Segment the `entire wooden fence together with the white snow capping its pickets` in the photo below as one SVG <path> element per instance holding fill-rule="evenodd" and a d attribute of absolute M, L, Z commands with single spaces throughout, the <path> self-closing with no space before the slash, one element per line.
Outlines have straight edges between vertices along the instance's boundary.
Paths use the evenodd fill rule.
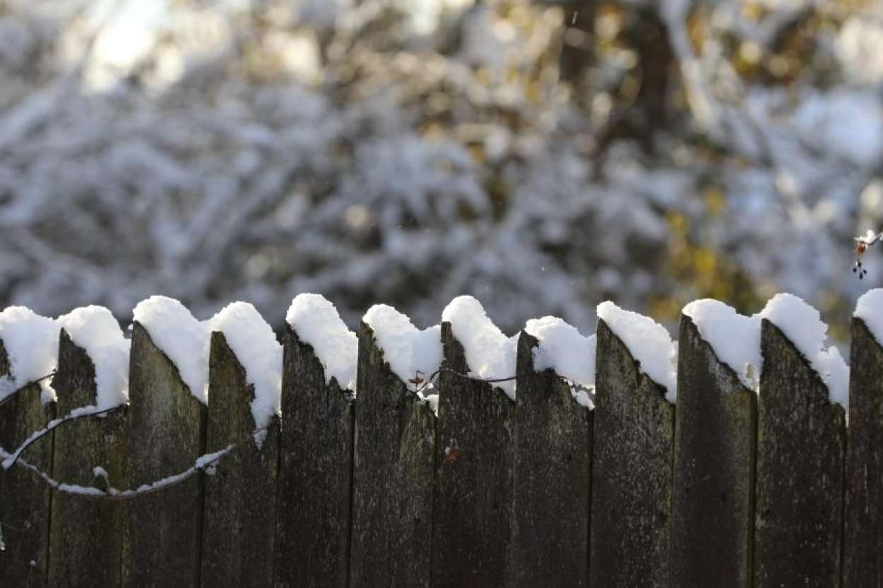
<path fill-rule="evenodd" d="M 879 585 L 883 290 L 598 315 L 7 309 L 0 586 Z"/>

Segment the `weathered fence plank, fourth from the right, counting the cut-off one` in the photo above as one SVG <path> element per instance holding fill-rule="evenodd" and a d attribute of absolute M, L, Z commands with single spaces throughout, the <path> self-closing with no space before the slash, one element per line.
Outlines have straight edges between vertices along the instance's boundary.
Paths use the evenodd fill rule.
<path fill-rule="evenodd" d="M 675 408 L 598 321 L 589 585 L 668 586 Z"/>

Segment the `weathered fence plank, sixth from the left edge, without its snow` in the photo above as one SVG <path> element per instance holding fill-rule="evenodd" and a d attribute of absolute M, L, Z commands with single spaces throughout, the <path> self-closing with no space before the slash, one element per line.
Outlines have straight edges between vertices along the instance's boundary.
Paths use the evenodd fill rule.
<path fill-rule="evenodd" d="M 435 415 L 392 372 L 362 323 L 351 588 L 428 588 L 434 477 Z"/>

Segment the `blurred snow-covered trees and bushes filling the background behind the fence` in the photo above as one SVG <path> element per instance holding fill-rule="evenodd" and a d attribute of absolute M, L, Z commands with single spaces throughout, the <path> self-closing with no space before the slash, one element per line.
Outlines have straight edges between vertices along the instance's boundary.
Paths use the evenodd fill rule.
<path fill-rule="evenodd" d="M 150 4 L 0 0 L 4 305 L 589 331 L 883 279 L 879 2 Z"/>

